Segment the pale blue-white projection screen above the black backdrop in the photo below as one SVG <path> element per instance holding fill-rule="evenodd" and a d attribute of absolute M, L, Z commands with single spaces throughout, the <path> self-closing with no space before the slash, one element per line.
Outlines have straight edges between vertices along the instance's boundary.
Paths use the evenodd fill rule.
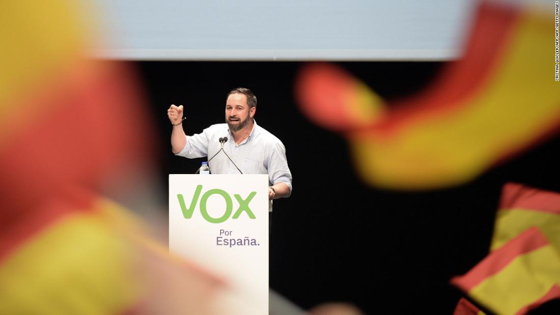
<path fill-rule="evenodd" d="M 468 0 L 95 0 L 100 58 L 450 60 Z"/>

